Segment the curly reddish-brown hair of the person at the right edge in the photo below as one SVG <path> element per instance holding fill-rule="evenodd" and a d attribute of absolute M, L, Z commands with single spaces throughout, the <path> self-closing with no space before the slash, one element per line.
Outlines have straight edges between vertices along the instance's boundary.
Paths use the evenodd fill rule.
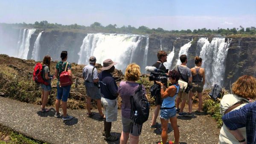
<path fill-rule="evenodd" d="M 256 78 L 243 75 L 232 85 L 232 92 L 243 98 L 256 98 Z"/>

